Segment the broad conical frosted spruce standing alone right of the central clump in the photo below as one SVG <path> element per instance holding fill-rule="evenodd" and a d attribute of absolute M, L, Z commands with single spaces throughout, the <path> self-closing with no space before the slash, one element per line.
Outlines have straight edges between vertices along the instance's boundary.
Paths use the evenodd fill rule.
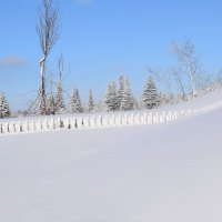
<path fill-rule="evenodd" d="M 158 94 L 157 87 L 149 77 L 143 90 L 143 103 L 147 109 L 157 108 L 160 104 L 160 95 Z"/>

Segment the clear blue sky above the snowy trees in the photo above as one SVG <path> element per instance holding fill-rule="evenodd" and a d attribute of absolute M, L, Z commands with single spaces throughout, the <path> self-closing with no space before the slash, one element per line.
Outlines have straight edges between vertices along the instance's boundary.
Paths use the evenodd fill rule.
<path fill-rule="evenodd" d="M 38 0 L 3 0 L 0 7 L 0 91 L 13 110 L 28 107 L 39 85 L 42 57 L 36 33 Z M 64 59 L 65 95 L 72 87 L 83 100 L 97 98 L 107 83 L 129 75 L 135 95 L 149 67 L 175 64 L 173 41 L 190 38 L 202 69 L 222 68 L 221 0 L 61 0 L 62 32 L 48 61 L 57 79 L 57 60 Z M 70 71 L 69 71 L 70 67 Z"/>

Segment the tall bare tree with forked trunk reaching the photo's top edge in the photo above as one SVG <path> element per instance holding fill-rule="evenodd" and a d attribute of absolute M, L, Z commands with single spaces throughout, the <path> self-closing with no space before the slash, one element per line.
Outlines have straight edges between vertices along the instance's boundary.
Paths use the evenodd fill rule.
<path fill-rule="evenodd" d="M 39 7 L 38 22 L 36 26 L 40 48 L 43 53 L 43 58 L 39 61 L 41 83 L 38 100 L 41 114 L 47 114 L 46 61 L 60 37 L 59 16 L 59 8 L 53 3 L 53 0 L 42 0 L 42 4 Z"/>

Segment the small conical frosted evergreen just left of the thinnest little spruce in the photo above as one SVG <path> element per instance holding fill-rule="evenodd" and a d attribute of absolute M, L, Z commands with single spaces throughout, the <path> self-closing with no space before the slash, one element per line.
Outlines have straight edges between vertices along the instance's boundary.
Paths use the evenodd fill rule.
<path fill-rule="evenodd" d="M 83 112 L 78 89 L 72 89 L 72 91 L 71 91 L 69 112 L 70 113 Z"/>

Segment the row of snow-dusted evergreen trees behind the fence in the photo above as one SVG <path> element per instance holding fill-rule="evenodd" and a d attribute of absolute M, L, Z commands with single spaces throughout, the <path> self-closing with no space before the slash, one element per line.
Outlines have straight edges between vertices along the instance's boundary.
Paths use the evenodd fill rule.
<path fill-rule="evenodd" d="M 67 103 L 67 104 L 65 104 Z M 87 105 L 82 104 L 82 99 L 79 90 L 73 88 L 70 92 L 69 100 L 64 100 L 64 91 L 62 81 L 57 83 L 56 93 L 51 93 L 46 100 L 46 113 L 65 114 L 65 113 L 83 113 L 83 112 L 98 112 L 98 111 L 130 111 L 137 109 L 153 109 L 161 105 L 161 93 L 158 91 L 152 78 L 149 77 L 144 85 L 142 94 L 142 103 L 133 95 L 130 80 L 125 75 L 120 75 L 118 85 L 114 81 L 108 84 L 107 93 L 102 100 L 95 101 L 92 89 L 89 90 L 89 98 Z M 30 112 L 29 114 L 42 114 L 42 107 L 39 107 L 38 112 Z M 0 118 L 9 118 L 11 115 L 7 98 L 2 93 L 0 95 Z"/>

